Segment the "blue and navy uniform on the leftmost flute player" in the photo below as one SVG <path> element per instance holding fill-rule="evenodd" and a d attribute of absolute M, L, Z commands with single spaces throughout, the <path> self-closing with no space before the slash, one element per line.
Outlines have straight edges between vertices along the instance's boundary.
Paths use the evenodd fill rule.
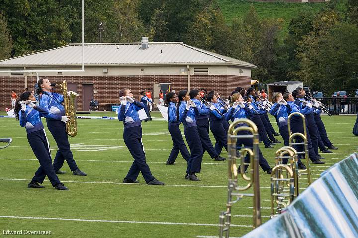
<path fill-rule="evenodd" d="M 41 122 L 40 112 L 43 115 L 47 114 L 47 111 L 40 106 L 32 108 L 26 105 L 26 111 L 19 111 L 20 126 L 26 128 L 27 140 L 40 162 L 40 167 L 31 182 L 43 183 L 47 175 L 52 186 L 55 187 L 60 183 L 60 180 L 52 166 L 50 146 Z"/>

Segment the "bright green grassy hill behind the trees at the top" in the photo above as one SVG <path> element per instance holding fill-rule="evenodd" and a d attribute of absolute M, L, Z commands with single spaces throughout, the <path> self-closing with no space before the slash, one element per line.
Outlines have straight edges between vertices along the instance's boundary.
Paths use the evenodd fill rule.
<path fill-rule="evenodd" d="M 347 0 L 341 0 L 338 8 L 344 11 Z M 253 4 L 260 18 L 282 18 L 284 20 L 283 30 L 280 38 L 287 34 L 287 27 L 292 17 L 301 11 L 318 12 L 328 3 L 287 3 L 287 2 L 255 2 L 252 0 L 217 0 L 225 20 L 228 24 L 235 17 L 242 18 Z"/>

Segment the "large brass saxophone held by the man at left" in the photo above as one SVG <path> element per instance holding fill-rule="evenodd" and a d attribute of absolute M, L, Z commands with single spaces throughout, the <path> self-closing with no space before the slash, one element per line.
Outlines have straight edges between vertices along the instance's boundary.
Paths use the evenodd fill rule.
<path fill-rule="evenodd" d="M 69 91 L 70 96 L 67 95 L 66 80 L 63 80 L 62 84 L 59 83 L 56 85 L 60 85 L 61 90 L 63 91 L 65 115 L 69 118 L 68 122 L 66 123 L 66 132 L 69 136 L 76 136 L 77 118 L 76 118 L 75 99 L 79 94 L 73 91 Z"/>

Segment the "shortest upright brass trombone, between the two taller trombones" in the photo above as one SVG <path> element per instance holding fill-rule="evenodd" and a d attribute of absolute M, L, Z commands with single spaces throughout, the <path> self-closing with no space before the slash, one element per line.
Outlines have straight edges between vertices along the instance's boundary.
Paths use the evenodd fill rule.
<path fill-rule="evenodd" d="M 288 165 L 282 162 L 285 158 L 289 159 Z M 275 160 L 276 165 L 271 175 L 271 218 L 281 214 L 282 210 L 299 194 L 297 151 L 292 147 L 284 146 L 276 151 Z M 286 172 L 286 178 L 284 172 Z M 289 187 L 288 190 L 286 186 Z"/>

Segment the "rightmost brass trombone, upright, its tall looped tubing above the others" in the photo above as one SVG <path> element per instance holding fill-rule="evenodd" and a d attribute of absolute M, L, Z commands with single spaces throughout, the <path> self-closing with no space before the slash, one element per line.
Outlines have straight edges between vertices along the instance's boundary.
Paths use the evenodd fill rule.
<path fill-rule="evenodd" d="M 303 124 L 303 133 L 300 132 L 296 132 L 293 133 L 291 132 L 291 118 L 293 116 L 300 116 L 302 118 L 302 124 Z M 288 135 L 289 135 L 289 145 L 290 147 L 294 147 L 296 145 L 303 145 L 304 146 L 304 151 L 297 151 L 297 155 L 305 155 L 306 158 L 306 164 L 307 164 L 307 169 L 306 170 L 302 170 L 301 172 L 307 172 L 307 173 L 300 173 L 299 176 L 301 175 L 307 175 L 307 183 L 308 186 L 311 185 L 312 183 L 312 177 L 311 177 L 311 169 L 310 169 L 310 165 L 309 165 L 309 154 L 308 154 L 308 140 L 307 140 L 307 130 L 306 130 L 306 120 L 305 120 L 305 116 L 302 113 L 299 112 L 293 112 L 288 116 Z M 294 142 L 294 138 L 295 137 L 300 137 L 302 138 L 303 142 Z"/>

